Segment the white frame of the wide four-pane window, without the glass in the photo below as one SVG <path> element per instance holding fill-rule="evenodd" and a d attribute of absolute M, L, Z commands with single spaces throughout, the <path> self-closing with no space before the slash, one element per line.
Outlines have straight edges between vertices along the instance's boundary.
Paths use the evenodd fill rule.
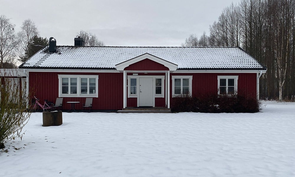
<path fill-rule="evenodd" d="M 77 94 L 62 94 L 62 78 L 77 78 Z M 95 78 L 95 94 L 81 94 L 81 78 L 87 78 L 87 84 L 89 84 L 89 78 Z M 89 93 L 89 85 L 87 86 L 87 92 Z M 98 98 L 98 75 L 58 75 L 58 97 L 96 97 Z"/>

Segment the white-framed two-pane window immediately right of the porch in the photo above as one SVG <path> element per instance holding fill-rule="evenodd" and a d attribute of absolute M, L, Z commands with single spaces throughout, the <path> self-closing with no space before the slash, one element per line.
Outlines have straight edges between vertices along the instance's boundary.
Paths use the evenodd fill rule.
<path fill-rule="evenodd" d="M 172 76 L 172 96 L 190 95 L 193 76 Z"/>

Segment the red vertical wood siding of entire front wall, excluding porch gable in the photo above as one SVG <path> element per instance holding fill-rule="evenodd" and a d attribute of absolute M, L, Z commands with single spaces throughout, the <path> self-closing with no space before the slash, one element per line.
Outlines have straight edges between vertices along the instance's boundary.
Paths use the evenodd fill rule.
<path fill-rule="evenodd" d="M 58 74 L 61 75 L 98 75 L 98 98 L 93 98 L 93 109 L 119 110 L 123 108 L 123 73 L 58 73 L 58 72 L 30 72 L 29 93 L 43 103 L 43 99 L 55 102 L 58 98 Z M 127 73 L 132 75 L 132 73 Z M 139 75 L 165 75 L 165 73 L 139 73 Z M 172 76 L 193 76 L 192 96 L 204 97 L 217 94 L 217 76 L 239 76 L 238 94 L 246 94 L 256 98 L 256 73 L 171 73 L 170 95 L 172 97 Z M 165 83 L 165 82 L 164 82 Z M 165 87 L 165 84 L 164 84 Z M 164 94 L 166 94 L 164 92 Z M 165 95 L 166 96 L 166 95 Z M 81 109 L 86 97 L 63 97 L 63 109 L 70 109 L 67 101 L 80 101 L 76 104 Z M 137 106 L 137 98 L 127 98 L 127 106 Z M 165 98 L 155 98 L 155 106 L 164 107 Z"/>

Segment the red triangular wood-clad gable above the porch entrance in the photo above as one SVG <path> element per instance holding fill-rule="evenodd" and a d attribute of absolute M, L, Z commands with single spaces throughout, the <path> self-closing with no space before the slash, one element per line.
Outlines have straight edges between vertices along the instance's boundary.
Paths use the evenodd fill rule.
<path fill-rule="evenodd" d="M 125 71 L 168 71 L 169 68 L 166 66 L 157 63 L 153 60 L 150 60 L 148 58 L 141 60 L 139 62 L 133 63 L 126 68 L 124 68 Z"/>

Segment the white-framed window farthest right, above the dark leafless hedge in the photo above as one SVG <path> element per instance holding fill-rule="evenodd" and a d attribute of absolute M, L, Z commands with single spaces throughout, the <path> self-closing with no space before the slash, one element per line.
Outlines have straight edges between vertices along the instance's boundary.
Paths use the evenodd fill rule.
<path fill-rule="evenodd" d="M 217 76 L 219 95 L 236 95 L 239 76 Z"/>

